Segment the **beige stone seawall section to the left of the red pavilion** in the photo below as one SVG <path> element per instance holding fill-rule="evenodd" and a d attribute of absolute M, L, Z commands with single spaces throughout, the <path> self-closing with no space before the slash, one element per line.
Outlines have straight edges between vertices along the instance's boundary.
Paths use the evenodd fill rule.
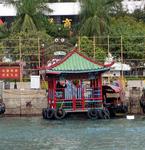
<path fill-rule="evenodd" d="M 18 89 L 3 90 L 3 102 L 6 115 L 41 115 L 42 108 L 47 107 L 46 91 L 30 89 L 29 83 L 17 83 Z"/>

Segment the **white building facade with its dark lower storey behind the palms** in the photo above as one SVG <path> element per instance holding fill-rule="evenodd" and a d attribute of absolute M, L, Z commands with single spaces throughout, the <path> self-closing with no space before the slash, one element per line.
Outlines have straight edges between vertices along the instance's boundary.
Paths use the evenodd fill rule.
<path fill-rule="evenodd" d="M 145 1 L 124 0 L 122 4 L 123 8 L 131 13 L 135 9 L 143 9 Z M 50 14 L 44 12 L 44 14 L 54 18 L 57 23 L 62 23 L 62 20 L 65 18 L 70 18 L 73 22 L 78 20 L 78 14 L 80 12 L 80 3 L 78 0 L 50 0 L 48 5 L 53 12 Z M 3 22 L 12 22 L 16 14 L 16 9 L 12 5 L 5 5 L 3 0 L 0 0 L 0 19 Z"/>

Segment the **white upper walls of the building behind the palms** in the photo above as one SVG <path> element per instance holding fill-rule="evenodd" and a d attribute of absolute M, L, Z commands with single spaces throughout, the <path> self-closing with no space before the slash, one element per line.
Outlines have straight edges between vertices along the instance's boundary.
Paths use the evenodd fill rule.
<path fill-rule="evenodd" d="M 145 0 L 124 0 L 122 2 L 124 9 L 129 12 L 133 12 L 135 9 L 143 9 L 145 6 Z M 62 15 L 78 15 L 80 12 L 79 2 L 56 2 L 49 3 L 49 7 L 53 10 L 50 16 L 62 16 Z M 0 16 L 16 16 L 16 9 L 13 6 L 8 6 L 0 1 Z"/>

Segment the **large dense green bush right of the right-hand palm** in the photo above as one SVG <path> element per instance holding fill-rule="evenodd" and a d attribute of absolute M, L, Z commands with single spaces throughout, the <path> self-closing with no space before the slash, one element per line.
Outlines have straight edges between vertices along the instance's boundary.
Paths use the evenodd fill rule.
<path fill-rule="evenodd" d="M 120 57 L 122 36 L 123 56 L 125 59 L 145 58 L 144 23 L 137 22 L 134 18 L 127 16 L 113 18 L 110 35 L 113 37 L 110 42 L 110 50 L 116 57 Z"/>

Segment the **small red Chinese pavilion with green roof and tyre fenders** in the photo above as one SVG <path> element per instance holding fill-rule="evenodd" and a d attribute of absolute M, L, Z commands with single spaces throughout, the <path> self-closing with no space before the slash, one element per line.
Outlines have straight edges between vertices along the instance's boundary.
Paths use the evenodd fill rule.
<path fill-rule="evenodd" d="M 103 105 L 102 74 L 109 66 L 99 64 L 77 49 L 51 66 L 41 68 L 48 81 L 45 119 L 62 119 L 67 113 L 85 112 L 89 118 L 110 118 Z"/>

